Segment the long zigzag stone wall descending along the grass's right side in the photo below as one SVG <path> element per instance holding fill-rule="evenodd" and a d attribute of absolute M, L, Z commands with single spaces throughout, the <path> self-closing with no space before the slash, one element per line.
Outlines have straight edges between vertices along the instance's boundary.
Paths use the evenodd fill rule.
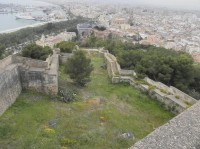
<path fill-rule="evenodd" d="M 133 70 L 122 70 L 116 57 L 108 53 L 108 51 L 103 49 L 88 50 L 88 52 L 94 51 L 98 51 L 101 54 L 103 53 L 102 55 L 105 59 L 108 75 L 111 78 L 112 83 L 129 83 L 135 88 L 149 94 L 152 98 L 161 102 L 166 109 L 174 114 L 183 112 L 185 109 L 197 102 L 197 100 L 180 90 L 172 86 L 169 87 L 161 82 L 156 82 L 150 78 L 146 77 L 143 81 L 137 82 L 134 79 L 136 73 Z"/>

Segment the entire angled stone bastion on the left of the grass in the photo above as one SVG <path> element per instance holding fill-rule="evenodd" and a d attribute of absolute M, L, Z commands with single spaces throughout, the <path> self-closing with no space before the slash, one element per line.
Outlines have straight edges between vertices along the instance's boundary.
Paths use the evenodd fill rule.
<path fill-rule="evenodd" d="M 46 61 L 11 55 L 0 61 L 0 115 L 11 106 L 22 89 L 58 93 L 59 49 Z"/>

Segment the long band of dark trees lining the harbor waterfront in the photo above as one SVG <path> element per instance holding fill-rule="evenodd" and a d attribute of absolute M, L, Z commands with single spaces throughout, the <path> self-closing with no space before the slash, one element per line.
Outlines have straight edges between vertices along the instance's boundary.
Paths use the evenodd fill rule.
<path fill-rule="evenodd" d="M 42 34 L 57 34 L 66 30 L 77 31 L 76 25 L 87 20 L 86 18 L 79 17 L 73 20 L 47 23 L 38 27 L 28 27 L 12 33 L 0 34 L 0 43 L 4 43 L 6 47 L 10 47 L 24 42 L 35 41 Z"/>

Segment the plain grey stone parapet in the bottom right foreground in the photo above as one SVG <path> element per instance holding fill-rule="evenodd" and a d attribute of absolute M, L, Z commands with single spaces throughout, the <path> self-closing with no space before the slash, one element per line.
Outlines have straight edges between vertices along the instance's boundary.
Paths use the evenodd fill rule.
<path fill-rule="evenodd" d="M 200 101 L 129 149 L 199 149 Z"/>

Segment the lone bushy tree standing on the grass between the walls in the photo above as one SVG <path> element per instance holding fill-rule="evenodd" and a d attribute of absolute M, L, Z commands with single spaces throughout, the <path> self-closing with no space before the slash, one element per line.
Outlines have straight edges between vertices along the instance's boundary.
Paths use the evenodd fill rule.
<path fill-rule="evenodd" d="M 65 73 L 81 86 L 85 86 L 90 81 L 92 71 L 91 59 L 87 58 L 86 53 L 82 50 L 75 51 L 65 65 Z"/>

